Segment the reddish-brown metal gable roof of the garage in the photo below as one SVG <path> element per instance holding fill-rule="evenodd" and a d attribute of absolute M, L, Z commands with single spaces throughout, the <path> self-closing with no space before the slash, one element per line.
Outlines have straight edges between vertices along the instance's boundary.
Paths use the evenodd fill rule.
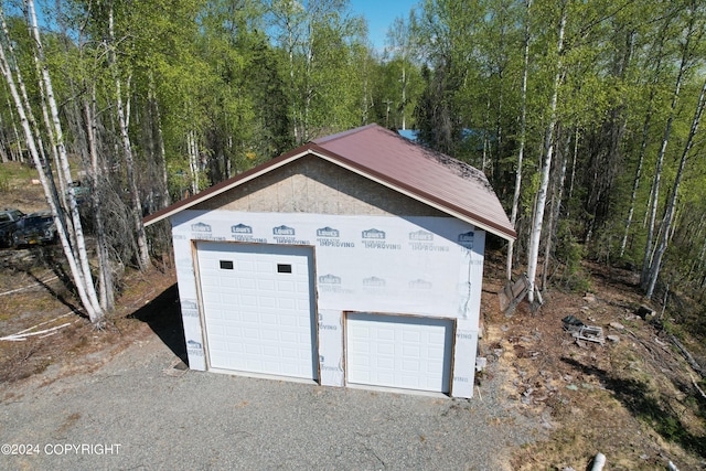
<path fill-rule="evenodd" d="M 317 139 L 145 218 L 149 225 L 302 156 L 313 153 L 505 239 L 510 224 L 488 179 L 461 161 L 368 125 Z"/>

